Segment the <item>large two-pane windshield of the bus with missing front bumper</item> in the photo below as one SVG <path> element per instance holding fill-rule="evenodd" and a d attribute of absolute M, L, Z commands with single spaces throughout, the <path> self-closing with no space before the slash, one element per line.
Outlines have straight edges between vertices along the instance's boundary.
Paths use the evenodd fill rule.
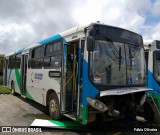
<path fill-rule="evenodd" d="M 95 40 L 90 52 L 90 80 L 97 85 L 139 85 L 146 79 L 144 49 L 136 45 Z"/>

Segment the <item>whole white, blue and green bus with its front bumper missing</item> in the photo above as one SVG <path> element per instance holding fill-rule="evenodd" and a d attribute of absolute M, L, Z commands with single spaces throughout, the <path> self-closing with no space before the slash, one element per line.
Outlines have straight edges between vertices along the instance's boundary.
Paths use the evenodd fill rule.
<path fill-rule="evenodd" d="M 77 26 L 5 55 L 4 84 L 84 125 L 139 112 L 146 93 L 142 36 L 101 23 Z M 143 118 L 147 118 L 144 115 Z"/>

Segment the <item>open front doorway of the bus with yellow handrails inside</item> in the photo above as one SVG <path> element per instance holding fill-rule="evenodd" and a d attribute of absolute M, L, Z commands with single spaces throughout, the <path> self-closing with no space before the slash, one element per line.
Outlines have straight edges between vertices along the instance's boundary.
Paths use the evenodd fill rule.
<path fill-rule="evenodd" d="M 61 111 L 76 116 L 79 41 L 64 44 Z M 74 113 L 75 112 L 75 113 Z"/>

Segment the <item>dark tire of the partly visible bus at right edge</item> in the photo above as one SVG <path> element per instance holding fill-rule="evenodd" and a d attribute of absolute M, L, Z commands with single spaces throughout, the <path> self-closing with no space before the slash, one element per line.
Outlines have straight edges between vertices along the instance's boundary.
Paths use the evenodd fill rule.
<path fill-rule="evenodd" d="M 152 99 L 147 99 L 146 102 L 144 103 L 143 108 L 144 108 L 145 118 L 149 122 L 160 125 L 160 115 Z"/>

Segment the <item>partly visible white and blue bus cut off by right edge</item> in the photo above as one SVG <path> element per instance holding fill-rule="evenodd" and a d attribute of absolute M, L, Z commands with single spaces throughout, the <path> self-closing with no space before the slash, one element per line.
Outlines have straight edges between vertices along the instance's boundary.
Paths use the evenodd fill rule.
<path fill-rule="evenodd" d="M 147 64 L 148 81 L 147 87 L 152 88 L 150 92 L 154 99 L 156 108 L 151 112 L 155 117 L 160 115 L 160 41 L 144 40 L 145 59 Z M 154 117 L 153 117 L 154 118 Z"/>

